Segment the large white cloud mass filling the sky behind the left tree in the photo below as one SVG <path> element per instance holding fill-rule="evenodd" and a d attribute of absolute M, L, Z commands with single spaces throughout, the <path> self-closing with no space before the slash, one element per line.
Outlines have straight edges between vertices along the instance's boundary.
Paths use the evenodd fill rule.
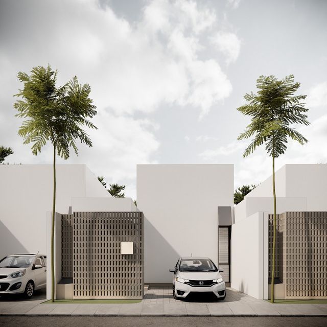
<path fill-rule="evenodd" d="M 230 95 L 217 59 L 202 57 L 216 32 L 215 11 L 195 1 L 153 0 L 133 23 L 97 0 L 5 2 L 0 104 L 8 110 L 0 113 L 0 138 L 14 147 L 11 162 L 51 162 L 51 149 L 34 157 L 21 145 L 12 109 L 21 87 L 17 72 L 50 63 L 59 69 L 58 84 L 74 75 L 87 82 L 98 110 L 99 130 L 90 132 L 94 147 L 81 146 L 80 156 L 67 162 L 86 162 L 96 174 L 132 185 L 136 164 L 153 162 L 159 147 L 157 126 L 137 114 L 168 104 L 194 107 L 202 118 Z"/>

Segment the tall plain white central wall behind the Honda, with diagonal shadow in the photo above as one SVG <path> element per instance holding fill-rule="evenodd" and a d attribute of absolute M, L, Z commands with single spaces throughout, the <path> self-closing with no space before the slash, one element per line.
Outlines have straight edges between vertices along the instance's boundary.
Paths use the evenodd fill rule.
<path fill-rule="evenodd" d="M 137 165 L 145 283 L 171 283 L 179 256 L 218 260 L 218 206 L 233 205 L 233 165 Z"/>

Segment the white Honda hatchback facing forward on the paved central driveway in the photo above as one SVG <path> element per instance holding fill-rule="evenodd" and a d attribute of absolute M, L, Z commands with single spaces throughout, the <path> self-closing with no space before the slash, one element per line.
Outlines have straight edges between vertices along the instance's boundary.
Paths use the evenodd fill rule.
<path fill-rule="evenodd" d="M 179 258 L 175 268 L 169 269 L 173 275 L 173 295 L 182 299 L 192 292 L 211 292 L 217 298 L 226 297 L 224 279 L 209 258 Z"/>

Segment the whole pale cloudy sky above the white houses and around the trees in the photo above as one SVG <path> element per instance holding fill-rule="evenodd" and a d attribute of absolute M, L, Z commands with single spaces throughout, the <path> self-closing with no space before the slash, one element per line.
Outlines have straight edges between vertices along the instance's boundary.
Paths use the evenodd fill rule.
<path fill-rule="evenodd" d="M 136 199 L 137 164 L 234 164 L 235 188 L 271 175 L 264 147 L 247 158 L 237 108 L 260 75 L 294 74 L 308 138 L 276 168 L 327 162 L 327 1 L 0 0 L 0 145 L 10 164 L 51 164 L 17 131 L 19 71 L 50 64 L 58 85 L 91 87 L 98 130 L 64 164 L 86 164 Z M 204 192 L 204 190 L 194 190 Z"/>

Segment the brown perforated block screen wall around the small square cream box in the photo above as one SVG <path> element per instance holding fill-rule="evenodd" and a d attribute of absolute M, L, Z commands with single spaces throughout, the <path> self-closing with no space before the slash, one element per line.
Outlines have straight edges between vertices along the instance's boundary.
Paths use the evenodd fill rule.
<path fill-rule="evenodd" d="M 143 298 L 143 225 L 141 212 L 62 215 L 62 277 L 73 277 L 74 299 Z"/>

